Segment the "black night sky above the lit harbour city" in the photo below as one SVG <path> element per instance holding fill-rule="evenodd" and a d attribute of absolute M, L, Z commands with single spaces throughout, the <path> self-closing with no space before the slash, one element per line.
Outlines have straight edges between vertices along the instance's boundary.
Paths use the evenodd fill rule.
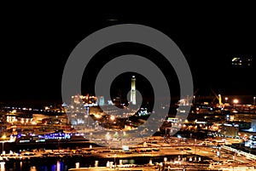
<path fill-rule="evenodd" d="M 171 37 L 188 60 L 195 89 L 256 94 L 255 65 L 230 66 L 233 57 L 249 56 L 255 63 L 256 26 L 251 9 L 198 8 L 170 14 L 73 11 L 17 5 L 1 12 L 0 100 L 61 100 L 62 71 L 73 48 L 94 31 L 124 23 L 152 26 Z M 105 50 L 106 55 L 151 54 L 132 44 L 119 45 L 117 51 L 113 48 Z M 104 55 L 99 54 L 97 61 Z M 93 89 L 93 82 L 86 79 L 84 93 Z"/>

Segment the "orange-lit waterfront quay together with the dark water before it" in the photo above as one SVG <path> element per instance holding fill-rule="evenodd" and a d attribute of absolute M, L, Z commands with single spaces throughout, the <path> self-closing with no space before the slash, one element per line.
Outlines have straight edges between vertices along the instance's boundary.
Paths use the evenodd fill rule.
<path fill-rule="evenodd" d="M 22 155 L 1 155 L 2 170 L 18 171 L 67 171 L 70 168 L 104 167 L 113 168 L 114 163 L 118 168 L 160 168 L 166 163 L 171 168 L 198 168 L 219 169 L 231 167 L 255 167 L 255 156 L 249 157 L 248 153 L 209 142 L 203 145 L 201 140 L 187 139 L 183 143 L 179 138 L 170 138 L 169 143 L 157 138 L 155 143 L 136 145 L 123 151 L 121 149 L 108 149 L 106 147 L 82 148 L 76 150 L 47 150 L 23 152 Z M 179 140 L 179 141 L 177 141 Z M 227 139 L 226 143 L 236 140 Z M 213 141 L 212 141 L 213 142 Z M 210 145 L 211 144 L 211 145 Z M 218 154 L 219 151 L 219 154 Z M 218 156 L 219 155 L 219 156 Z M 234 160 L 234 155 L 236 156 Z"/>

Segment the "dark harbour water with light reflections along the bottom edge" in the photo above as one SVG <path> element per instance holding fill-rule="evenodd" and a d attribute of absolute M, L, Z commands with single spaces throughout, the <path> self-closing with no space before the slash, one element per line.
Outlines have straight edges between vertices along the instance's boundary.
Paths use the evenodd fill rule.
<path fill-rule="evenodd" d="M 175 161 L 181 158 L 181 156 L 166 156 L 167 161 Z M 183 156 L 185 161 L 201 162 L 209 159 L 207 157 L 200 156 Z M 149 160 L 152 162 L 163 162 L 164 157 L 134 157 L 134 158 L 97 158 L 97 157 L 70 157 L 70 158 L 34 158 L 26 161 L 5 161 L 0 163 L 0 171 L 67 171 L 69 168 L 75 168 L 76 163 L 79 163 L 80 168 L 94 167 L 95 161 L 98 161 L 99 167 L 107 166 L 107 162 L 116 161 L 119 164 L 119 160 L 122 160 L 123 164 L 147 164 Z"/>

